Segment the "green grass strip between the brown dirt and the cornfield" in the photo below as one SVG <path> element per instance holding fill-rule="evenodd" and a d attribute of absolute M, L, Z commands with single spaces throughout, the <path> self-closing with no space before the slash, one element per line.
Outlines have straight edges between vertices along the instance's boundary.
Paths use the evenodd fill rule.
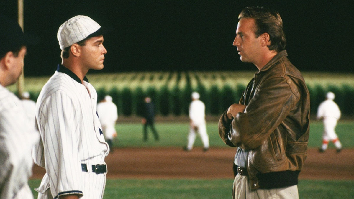
<path fill-rule="evenodd" d="M 218 134 L 216 122 L 207 123 L 211 147 L 228 147 L 222 142 Z M 155 142 L 149 130 L 149 141 L 143 142 L 143 126 L 139 123 L 121 123 L 116 125 L 117 138 L 115 147 L 183 147 L 187 144 L 189 132 L 188 123 L 156 123 L 156 130 L 160 135 L 160 141 Z M 336 132 L 344 148 L 354 148 L 353 142 L 354 121 L 339 121 Z M 320 121 L 311 121 L 308 147 L 319 147 L 322 144 L 323 124 Z M 202 146 L 197 137 L 194 146 Z M 334 147 L 330 142 L 329 147 Z"/>

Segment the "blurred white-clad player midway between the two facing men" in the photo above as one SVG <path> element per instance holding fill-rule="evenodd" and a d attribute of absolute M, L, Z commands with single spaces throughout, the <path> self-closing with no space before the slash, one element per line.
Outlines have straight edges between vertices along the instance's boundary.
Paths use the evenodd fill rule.
<path fill-rule="evenodd" d="M 188 143 L 187 147 L 184 148 L 187 151 L 192 150 L 197 132 L 203 142 L 203 150 L 206 151 L 209 149 L 209 137 L 206 133 L 205 105 L 199 100 L 199 97 L 198 92 L 192 93 L 192 102 L 189 105 L 190 128 Z"/>

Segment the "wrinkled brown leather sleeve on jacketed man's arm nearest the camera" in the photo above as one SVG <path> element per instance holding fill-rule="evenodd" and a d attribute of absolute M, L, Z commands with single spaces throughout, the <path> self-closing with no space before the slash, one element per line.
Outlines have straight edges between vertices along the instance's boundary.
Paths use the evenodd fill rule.
<path fill-rule="evenodd" d="M 261 146 L 289 114 L 294 97 L 284 77 L 265 80 L 250 99 L 245 112 L 238 113 L 232 120 L 227 140 L 248 150 Z"/>

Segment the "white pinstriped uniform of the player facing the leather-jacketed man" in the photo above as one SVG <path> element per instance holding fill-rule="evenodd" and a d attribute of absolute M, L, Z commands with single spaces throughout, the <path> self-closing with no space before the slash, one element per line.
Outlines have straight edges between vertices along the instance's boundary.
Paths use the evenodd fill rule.
<path fill-rule="evenodd" d="M 81 164 L 90 168 L 91 164 L 104 164 L 109 153 L 96 107 L 97 93 L 87 79 L 81 84 L 73 72 L 58 66 L 36 104 L 41 142 L 33 156 L 46 169 L 38 192 L 50 190 L 53 198 L 64 194 L 103 197 L 105 174 L 90 173 L 101 180 L 87 180 L 88 173 L 81 168 Z"/>

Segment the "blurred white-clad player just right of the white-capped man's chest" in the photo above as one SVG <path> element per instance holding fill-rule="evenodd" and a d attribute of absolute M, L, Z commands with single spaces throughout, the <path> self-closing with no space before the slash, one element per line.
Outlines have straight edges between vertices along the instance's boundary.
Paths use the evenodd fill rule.
<path fill-rule="evenodd" d="M 113 138 L 117 136 L 115 124 L 118 119 L 117 106 L 112 100 L 111 96 L 106 95 L 104 99 L 97 104 L 97 113 L 102 125 L 102 131 L 111 150 Z"/>

